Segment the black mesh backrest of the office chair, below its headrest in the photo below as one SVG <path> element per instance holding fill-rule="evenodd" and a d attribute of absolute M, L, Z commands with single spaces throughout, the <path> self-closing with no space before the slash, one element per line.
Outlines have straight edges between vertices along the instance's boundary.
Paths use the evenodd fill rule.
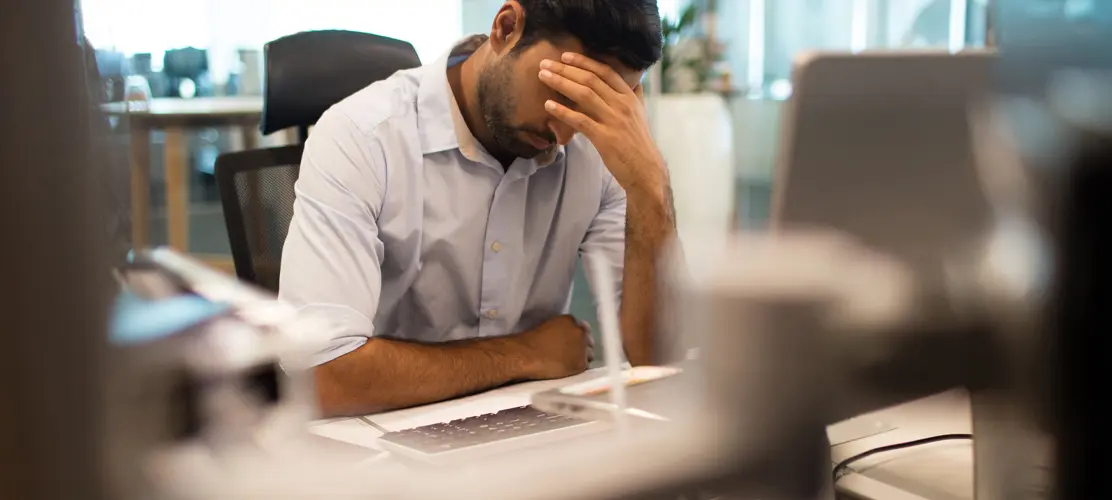
<path fill-rule="evenodd" d="M 301 146 L 221 154 L 216 182 L 239 279 L 278 291 Z"/>

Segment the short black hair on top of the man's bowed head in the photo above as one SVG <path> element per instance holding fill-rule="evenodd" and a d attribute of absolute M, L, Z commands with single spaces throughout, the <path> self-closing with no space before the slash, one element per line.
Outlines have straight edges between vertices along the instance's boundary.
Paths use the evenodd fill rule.
<path fill-rule="evenodd" d="M 590 57 L 613 57 L 637 71 L 661 59 L 664 38 L 656 0 L 517 0 L 525 9 L 518 50 L 572 36 Z"/>

